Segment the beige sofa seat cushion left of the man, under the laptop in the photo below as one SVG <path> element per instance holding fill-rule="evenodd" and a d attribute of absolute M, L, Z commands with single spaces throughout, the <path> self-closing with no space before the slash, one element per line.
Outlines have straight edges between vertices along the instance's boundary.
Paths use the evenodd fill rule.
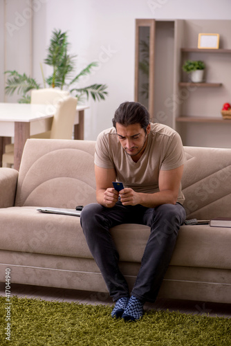
<path fill-rule="evenodd" d="M 0 209 L 2 250 L 91 257 L 80 226 L 80 217 L 45 214 L 36 209 Z"/>

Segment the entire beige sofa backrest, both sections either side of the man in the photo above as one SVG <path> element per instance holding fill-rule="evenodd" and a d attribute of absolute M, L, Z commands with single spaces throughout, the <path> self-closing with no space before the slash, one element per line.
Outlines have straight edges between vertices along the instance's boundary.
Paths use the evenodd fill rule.
<path fill-rule="evenodd" d="M 95 202 L 95 141 L 29 139 L 16 206 L 75 208 Z M 187 218 L 231 217 L 231 149 L 185 147 L 182 188 Z"/>

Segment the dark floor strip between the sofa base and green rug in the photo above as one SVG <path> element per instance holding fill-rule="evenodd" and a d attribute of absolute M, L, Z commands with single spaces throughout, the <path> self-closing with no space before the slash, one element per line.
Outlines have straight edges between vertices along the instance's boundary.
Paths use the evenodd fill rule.
<path fill-rule="evenodd" d="M 6 296 L 6 284 L 0 282 L 0 295 Z M 42 300 L 55 300 L 65 302 L 80 302 L 82 304 L 107 304 L 113 302 L 107 293 L 77 291 L 71 289 L 57 289 L 52 287 L 30 286 L 23 284 L 11 284 L 10 294 L 18 297 L 41 298 Z M 155 304 L 145 303 L 145 310 L 160 309 L 180 311 L 181 313 L 209 314 L 231 318 L 231 304 L 218 304 L 212 302 L 194 302 L 188 300 L 158 299 Z"/>

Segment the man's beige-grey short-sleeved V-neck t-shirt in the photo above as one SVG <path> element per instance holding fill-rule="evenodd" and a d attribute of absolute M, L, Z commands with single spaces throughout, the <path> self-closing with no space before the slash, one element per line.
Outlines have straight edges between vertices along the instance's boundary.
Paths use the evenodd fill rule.
<path fill-rule="evenodd" d="M 147 147 L 138 162 L 124 152 L 114 127 L 102 131 L 95 146 L 95 165 L 113 168 L 117 181 L 136 192 L 158 192 L 160 170 L 173 170 L 183 163 L 185 152 L 181 137 L 174 129 L 162 124 L 151 123 Z M 183 203 L 184 200 L 180 188 L 177 201 Z"/>

